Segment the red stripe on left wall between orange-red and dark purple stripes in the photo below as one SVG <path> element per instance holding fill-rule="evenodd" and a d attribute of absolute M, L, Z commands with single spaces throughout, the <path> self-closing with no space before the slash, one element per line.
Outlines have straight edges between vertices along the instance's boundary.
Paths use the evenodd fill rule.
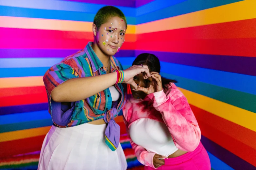
<path fill-rule="evenodd" d="M 18 96 L 0 97 L 0 101 L 1 101 L 0 107 L 48 102 L 46 92 L 36 93 L 36 94 L 25 94 L 25 95 L 18 95 Z"/>

